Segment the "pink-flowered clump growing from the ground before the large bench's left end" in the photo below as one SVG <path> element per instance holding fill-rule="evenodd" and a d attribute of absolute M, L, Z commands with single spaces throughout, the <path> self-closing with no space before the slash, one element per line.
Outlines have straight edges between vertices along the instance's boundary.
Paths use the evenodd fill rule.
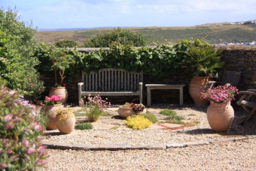
<path fill-rule="evenodd" d="M 107 102 L 108 98 L 105 101 L 102 100 L 100 93 L 94 97 L 90 97 L 89 94 L 87 100 L 84 103 L 84 100 L 81 98 L 79 106 L 85 109 L 85 115 L 88 117 L 89 122 L 97 121 L 103 115 L 103 109 L 111 106 L 111 102 Z"/>

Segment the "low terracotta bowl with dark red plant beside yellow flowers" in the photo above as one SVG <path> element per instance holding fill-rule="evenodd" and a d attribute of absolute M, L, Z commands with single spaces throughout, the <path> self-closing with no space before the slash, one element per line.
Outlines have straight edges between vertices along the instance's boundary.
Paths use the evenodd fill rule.
<path fill-rule="evenodd" d="M 119 106 L 119 109 L 117 110 L 117 113 L 123 118 L 145 112 L 146 110 L 143 104 L 133 104 L 128 102 L 126 102 L 124 105 Z"/>

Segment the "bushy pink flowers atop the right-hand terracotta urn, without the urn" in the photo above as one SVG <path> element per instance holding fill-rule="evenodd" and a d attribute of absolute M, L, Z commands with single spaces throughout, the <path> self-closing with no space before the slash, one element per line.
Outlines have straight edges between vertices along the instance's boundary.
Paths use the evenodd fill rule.
<path fill-rule="evenodd" d="M 211 104 L 227 104 L 227 102 L 235 100 L 238 89 L 235 86 L 224 85 L 208 89 L 207 92 L 203 91 L 200 94 L 200 98 L 210 101 Z"/>

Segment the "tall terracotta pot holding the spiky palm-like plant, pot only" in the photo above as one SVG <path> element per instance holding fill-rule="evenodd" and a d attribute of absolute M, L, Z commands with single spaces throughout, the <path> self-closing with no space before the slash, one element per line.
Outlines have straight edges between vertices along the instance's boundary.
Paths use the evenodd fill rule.
<path fill-rule="evenodd" d="M 195 102 L 196 106 L 208 106 L 208 100 L 202 100 L 200 98 L 200 93 L 203 90 L 206 92 L 208 88 L 210 88 L 211 84 L 208 81 L 212 81 L 213 79 L 210 77 L 193 77 L 190 81 L 189 92 L 190 96 Z"/>

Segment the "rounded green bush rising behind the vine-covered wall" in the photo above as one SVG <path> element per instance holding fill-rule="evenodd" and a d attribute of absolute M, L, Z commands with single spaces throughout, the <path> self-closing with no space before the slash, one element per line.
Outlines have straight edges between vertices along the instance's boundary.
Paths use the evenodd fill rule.
<path fill-rule="evenodd" d="M 84 41 L 85 47 L 109 47 L 113 42 L 122 45 L 133 45 L 136 47 L 147 45 L 147 39 L 141 33 L 133 33 L 130 30 L 122 30 L 120 28 L 113 29 L 106 33 L 96 34 L 90 39 Z"/>

